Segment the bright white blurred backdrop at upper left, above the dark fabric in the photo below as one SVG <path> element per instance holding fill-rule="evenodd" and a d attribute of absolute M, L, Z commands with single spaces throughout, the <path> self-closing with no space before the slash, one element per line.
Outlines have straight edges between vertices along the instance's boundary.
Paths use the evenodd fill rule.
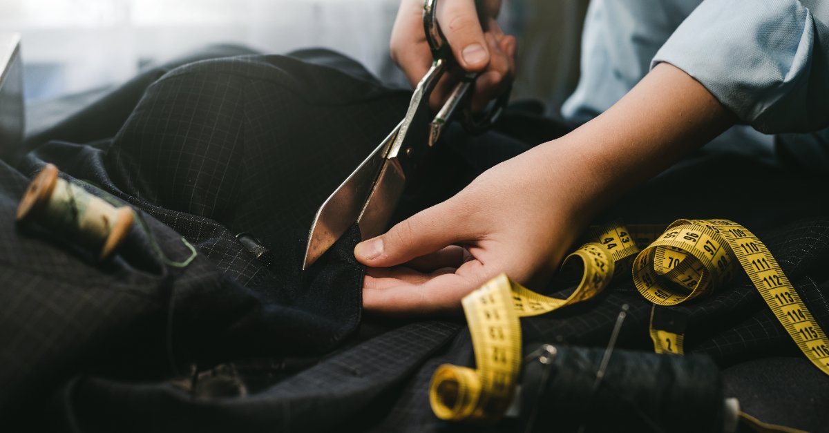
<path fill-rule="evenodd" d="M 378 71 L 398 0 L 0 0 L 0 30 L 22 32 L 27 97 L 128 79 L 209 43 L 264 52 L 327 46 Z"/>

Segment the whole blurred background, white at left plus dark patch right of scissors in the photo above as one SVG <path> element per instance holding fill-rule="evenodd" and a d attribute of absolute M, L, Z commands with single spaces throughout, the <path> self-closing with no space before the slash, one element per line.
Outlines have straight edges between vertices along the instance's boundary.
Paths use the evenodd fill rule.
<path fill-rule="evenodd" d="M 388 55 L 400 0 L 0 0 L 0 31 L 22 33 L 27 105 L 105 90 L 142 68 L 215 43 L 264 53 L 325 46 L 406 85 Z M 587 0 L 504 0 L 519 36 L 515 98 L 556 110 L 578 77 Z"/>

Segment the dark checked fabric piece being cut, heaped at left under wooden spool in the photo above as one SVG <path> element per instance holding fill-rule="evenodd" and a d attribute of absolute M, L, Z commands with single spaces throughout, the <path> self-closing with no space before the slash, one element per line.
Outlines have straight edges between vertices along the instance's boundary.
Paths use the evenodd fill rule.
<path fill-rule="evenodd" d="M 132 99 L 128 86 L 87 112 Z M 114 139 L 53 141 L 17 170 L 2 165 L 2 280 L 10 283 L 2 415 L 35 409 L 80 372 L 158 379 L 192 363 L 319 356 L 342 342 L 360 318 L 363 270 L 351 254 L 359 232 L 305 273 L 300 251 L 316 207 L 399 121 L 407 99 L 296 58 L 205 61 L 148 86 Z M 56 130 L 73 124 L 86 127 L 69 119 Z M 26 176 L 44 161 L 143 210 L 149 232 L 133 225 L 123 253 L 95 265 L 16 227 Z M 272 269 L 236 241 L 239 231 L 270 246 Z M 199 256 L 177 269 L 150 238 L 183 260 L 181 236 Z"/>

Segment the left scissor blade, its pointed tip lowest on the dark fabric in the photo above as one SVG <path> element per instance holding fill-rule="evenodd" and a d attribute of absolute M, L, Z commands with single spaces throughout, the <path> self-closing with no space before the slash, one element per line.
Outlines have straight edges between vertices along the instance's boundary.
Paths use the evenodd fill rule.
<path fill-rule="evenodd" d="M 313 265 L 360 217 L 399 130 L 400 125 L 322 203 L 311 223 L 303 270 Z"/>

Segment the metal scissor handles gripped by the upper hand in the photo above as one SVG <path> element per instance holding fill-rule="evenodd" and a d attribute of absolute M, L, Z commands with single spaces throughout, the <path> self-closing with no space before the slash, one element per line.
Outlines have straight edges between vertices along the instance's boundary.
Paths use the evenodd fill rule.
<path fill-rule="evenodd" d="M 481 17 L 481 0 L 475 0 L 475 7 L 478 10 L 478 16 Z M 453 60 L 454 56 L 449 44 L 446 42 L 444 33 L 440 30 L 437 18 L 438 0 L 425 0 L 423 4 L 423 26 L 426 34 L 426 41 L 429 42 L 429 48 L 432 50 L 432 56 L 435 60 L 446 59 Z M 486 29 L 486 22 L 481 20 L 482 28 Z M 490 129 L 498 117 L 501 116 L 504 108 L 510 100 L 511 88 L 499 95 L 497 99 L 490 103 L 489 107 L 484 110 L 482 114 L 473 114 L 470 93 L 474 88 L 477 74 L 467 74 L 463 78 L 463 82 L 458 84 L 446 101 L 444 108 L 440 109 L 438 118 L 442 121 L 448 121 L 455 109 L 463 100 L 465 106 L 463 108 L 463 128 L 470 134 L 481 134 Z"/>

